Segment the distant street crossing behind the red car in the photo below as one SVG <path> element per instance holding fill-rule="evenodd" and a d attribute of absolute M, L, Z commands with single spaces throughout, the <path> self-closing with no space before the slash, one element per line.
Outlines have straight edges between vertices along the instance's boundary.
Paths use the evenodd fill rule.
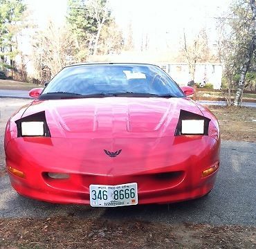
<path fill-rule="evenodd" d="M 0 98 L 30 98 L 28 91 L 21 90 L 0 90 Z M 225 106 L 225 101 L 200 100 L 199 103 L 207 105 Z M 256 103 L 243 102 L 243 107 L 256 107 Z"/>

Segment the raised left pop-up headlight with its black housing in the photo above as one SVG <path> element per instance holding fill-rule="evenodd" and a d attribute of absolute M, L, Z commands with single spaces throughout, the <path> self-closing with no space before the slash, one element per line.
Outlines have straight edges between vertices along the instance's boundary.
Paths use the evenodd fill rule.
<path fill-rule="evenodd" d="M 18 137 L 20 136 L 50 136 L 46 123 L 45 112 L 41 111 L 16 121 Z"/>

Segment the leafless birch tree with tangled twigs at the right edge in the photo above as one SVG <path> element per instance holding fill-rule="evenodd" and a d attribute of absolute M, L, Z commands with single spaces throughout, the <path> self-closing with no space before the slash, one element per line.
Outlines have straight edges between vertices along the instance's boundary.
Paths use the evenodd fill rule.
<path fill-rule="evenodd" d="M 253 2 L 253 1 L 250 1 Z M 255 1 L 254 1 L 255 2 Z M 230 12 L 219 18 L 219 61 L 223 65 L 222 91 L 227 105 L 241 104 L 241 96 L 248 81 L 247 72 L 253 70 L 255 29 L 249 0 L 230 4 Z M 254 51 L 254 52 L 253 52 Z M 232 103 L 233 91 L 237 89 Z"/>

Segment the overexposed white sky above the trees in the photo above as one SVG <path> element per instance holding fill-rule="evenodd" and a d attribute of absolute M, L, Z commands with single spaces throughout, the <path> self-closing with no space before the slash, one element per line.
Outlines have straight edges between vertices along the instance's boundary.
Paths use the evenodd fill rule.
<path fill-rule="evenodd" d="M 33 19 L 44 28 L 49 19 L 62 25 L 65 21 L 67 0 L 25 0 Z M 225 12 L 231 0 L 110 0 L 116 22 L 127 34 L 131 24 L 134 42 L 140 46 L 142 37 L 149 37 L 152 49 L 180 43 L 183 32 L 193 37 L 201 28 L 208 29 L 214 44 L 216 17 Z"/>

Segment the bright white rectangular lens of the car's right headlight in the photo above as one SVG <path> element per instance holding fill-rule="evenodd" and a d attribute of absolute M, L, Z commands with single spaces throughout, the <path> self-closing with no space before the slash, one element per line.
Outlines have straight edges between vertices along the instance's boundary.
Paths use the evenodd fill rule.
<path fill-rule="evenodd" d="M 181 134 L 203 134 L 204 120 L 181 120 Z"/>

